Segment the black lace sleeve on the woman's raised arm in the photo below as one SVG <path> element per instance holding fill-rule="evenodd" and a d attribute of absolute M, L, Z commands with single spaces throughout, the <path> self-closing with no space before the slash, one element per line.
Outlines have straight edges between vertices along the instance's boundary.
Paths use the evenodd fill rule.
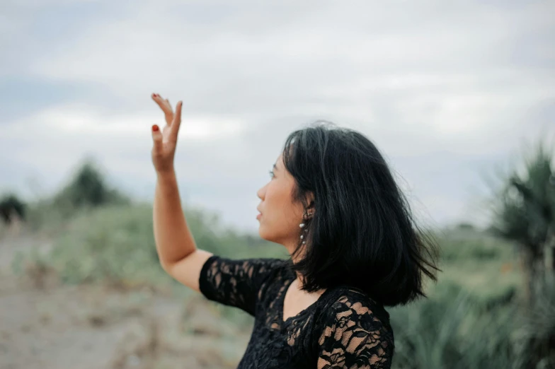
<path fill-rule="evenodd" d="M 254 315 L 258 290 L 281 259 L 227 259 L 212 255 L 202 266 L 200 292 L 208 300 Z"/>

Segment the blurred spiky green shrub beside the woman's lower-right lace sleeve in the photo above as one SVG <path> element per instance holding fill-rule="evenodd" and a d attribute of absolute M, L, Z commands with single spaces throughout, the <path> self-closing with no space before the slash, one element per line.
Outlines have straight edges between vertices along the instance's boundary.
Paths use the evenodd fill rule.
<path fill-rule="evenodd" d="M 394 368 L 511 368 L 509 313 L 481 315 L 454 284 L 432 297 L 391 309 Z"/>

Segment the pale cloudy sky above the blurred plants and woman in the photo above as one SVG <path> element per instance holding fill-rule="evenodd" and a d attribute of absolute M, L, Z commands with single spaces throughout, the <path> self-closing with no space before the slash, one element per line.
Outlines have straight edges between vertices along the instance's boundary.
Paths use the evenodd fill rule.
<path fill-rule="evenodd" d="M 484 176 L 555 135 L 554 1 L 0 1 L 0 191 L 87 156 L 152 199 L 153 92 L 183 100 L 183 201 L 256 230 L 256 191 L 316 119 L 382 151 L 422 223 L 486 221 Z M 506 165 L 505 165 L 506 166 Z"/>

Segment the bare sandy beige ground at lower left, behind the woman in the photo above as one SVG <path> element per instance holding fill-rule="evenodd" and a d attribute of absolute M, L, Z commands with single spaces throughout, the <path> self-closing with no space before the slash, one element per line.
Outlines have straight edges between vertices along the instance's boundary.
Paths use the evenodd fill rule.
<path fill-rule="evenodd" d="M 13 274 L 16 252 L 47 252 L 31 236 L 0 239 L 0 368 L 236 368 L 248 342 L 202 295 L 63 286 L 40 268 Z"/>

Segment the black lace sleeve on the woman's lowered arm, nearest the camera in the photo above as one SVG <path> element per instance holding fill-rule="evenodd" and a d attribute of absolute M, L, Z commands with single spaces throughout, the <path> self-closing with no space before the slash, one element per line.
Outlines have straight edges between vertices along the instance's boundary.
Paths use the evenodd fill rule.
<path fill-rule="evenodd" d="M 318 369 L 390 368 L 394 341 L 370 304 L 342 296 L 330 309 L 319 338 Z"/>

